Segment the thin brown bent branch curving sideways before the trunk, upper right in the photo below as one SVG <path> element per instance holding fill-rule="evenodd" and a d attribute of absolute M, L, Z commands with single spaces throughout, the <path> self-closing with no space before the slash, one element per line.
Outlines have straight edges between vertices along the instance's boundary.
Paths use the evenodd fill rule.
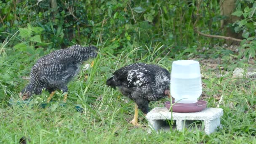
<path fill-rule="evenodd" d="M 199 35 L 203 35 L 205 37 L 214 37 L 214 38 L 222 38 L 222 39 L 226 39 L 226 40 L 234 40 L 234 41 L 238 41 L 238 42 L 241 42 L 243 40 L 241 39 L 237 39 L 237 38 L 234 38 L 234 37 L 225 37 L 225 36 L 221 36 L 221 35 L 208 35 L 208 34 L 204 34 L 203 32 L 200 32 L 199 29 L 196 27 L 196 24 L 199 20 L 199 8 L 200 8 L 200 5 L 202 3 L 202 0 L 199 0 L 198 3 L 197 3 L 197 19 L 195 20 L 195 23 L 193 25 L 193 28 L 194 28 L 194 31 L 197 32 Z"/>

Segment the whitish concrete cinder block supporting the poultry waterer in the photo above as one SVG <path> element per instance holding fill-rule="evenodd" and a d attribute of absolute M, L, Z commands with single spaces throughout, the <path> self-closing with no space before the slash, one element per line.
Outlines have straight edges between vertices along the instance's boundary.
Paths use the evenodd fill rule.
<path fill-rule="evenodd" d="M 165 107 L 156 107 L 150 111 L 146 118 L 149 122 L 149 126 L 156 131 L 170 130 L 169 123 L 166 120 L 174 120 L 176 125 L 172 125 L 172 128 L 182 131 L 183 128 L 190 128 L 193 123 L 200 121 L 197 124 L 199 128 L 204 128 L 206 134 L 213 133 L 215 129 L 220 126 L 220 118 L 223 115 L 223 110 L 220 108 L 205 108 L 201 112 L 191 113 L 179 113 L 169 112 Z"/>

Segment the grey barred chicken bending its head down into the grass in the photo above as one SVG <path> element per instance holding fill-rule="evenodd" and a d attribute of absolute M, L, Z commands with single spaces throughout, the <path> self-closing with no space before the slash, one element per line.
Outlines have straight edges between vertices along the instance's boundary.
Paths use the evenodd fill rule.
<path fill-rule="evenodd" d="M 68 91 L 67 83 L 80 72 L 80 65 L 83 61 L 96 56 L 95 46 L 83 47 L 81 45 L 73 45 L 43 56 L 32 67 L 29 84 L 19 96 L 23 100 L 29 99 L 33 94 L 42 93 L 45 88 L 51 93 L 47 99 L 49 102 L 56 90 L 61 90 L 63 93 Z M 67 94 L 64 95 L 65 101 L 67 101 Z"/>

